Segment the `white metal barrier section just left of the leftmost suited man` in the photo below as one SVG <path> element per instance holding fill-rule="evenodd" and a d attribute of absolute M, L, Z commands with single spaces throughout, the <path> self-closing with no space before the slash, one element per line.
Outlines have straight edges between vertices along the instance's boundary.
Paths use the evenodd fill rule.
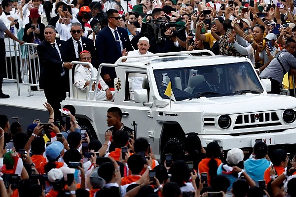
<path fill-rule="evenodd" d="M 21 61 L 21 71 L 23 84 L 29 87 L 29 96 L 32 95 L 31 86 L 39 87 L 39 74 L 40 64 L 37 55 L 38 44 L 24 43 L 23 46 L 19 46 L 20 50 L 23 49 L 23 60 Z"/>

